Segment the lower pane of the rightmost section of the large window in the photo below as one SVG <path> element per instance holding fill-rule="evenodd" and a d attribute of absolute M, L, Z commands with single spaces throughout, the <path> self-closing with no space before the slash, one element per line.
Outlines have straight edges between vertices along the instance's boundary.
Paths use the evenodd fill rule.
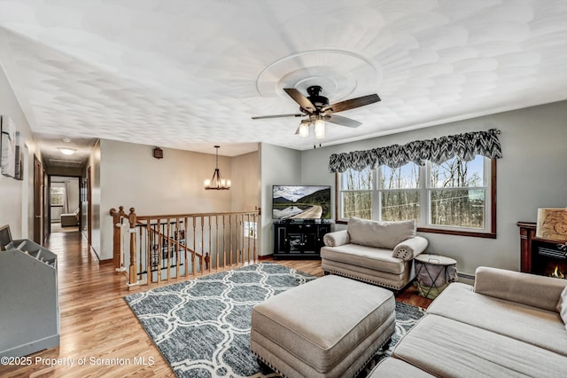
<path fill-rule="evenodd" d="M 485 190 L 431 190 L 431 224 L 485 228 Z"/>

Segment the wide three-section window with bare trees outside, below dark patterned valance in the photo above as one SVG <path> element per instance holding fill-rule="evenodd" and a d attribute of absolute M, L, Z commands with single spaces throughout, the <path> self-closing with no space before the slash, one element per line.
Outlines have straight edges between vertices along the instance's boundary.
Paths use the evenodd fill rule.
<path fill-rule="evenodd" d="M 338 173 L 338 221 L 414 219 L 421 232 L 495 237 L 495 160 L 476 155 L 440 164 Z"/>

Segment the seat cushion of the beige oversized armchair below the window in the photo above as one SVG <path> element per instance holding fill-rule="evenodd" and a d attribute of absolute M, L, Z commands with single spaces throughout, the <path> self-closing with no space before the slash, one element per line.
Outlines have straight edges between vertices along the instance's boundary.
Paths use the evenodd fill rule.
<path fill-rule="evenodd" d="M 406 266 L 401 258 L 392 257 L 391 249 L 366 247 L 357 244 L 323 247 L 321 248 L 321 258 L 393 274 L 403 273 Z"/>

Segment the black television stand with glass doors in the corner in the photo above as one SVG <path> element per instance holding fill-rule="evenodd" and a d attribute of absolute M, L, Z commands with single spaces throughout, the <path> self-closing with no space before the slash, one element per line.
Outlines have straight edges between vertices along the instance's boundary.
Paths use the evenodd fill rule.
<path fill-rule="evenodd" d="M 330 223 L 319 219 L 274 222 L 274 258 L 321 258 Z"/>

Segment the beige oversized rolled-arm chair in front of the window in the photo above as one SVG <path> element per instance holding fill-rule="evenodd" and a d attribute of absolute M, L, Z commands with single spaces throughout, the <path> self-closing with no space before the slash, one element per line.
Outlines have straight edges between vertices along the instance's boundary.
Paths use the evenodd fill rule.
<path fill-rule="evenodd" d="M 351 217 L 346 230 L 323 237 L 321 266 L 338 274 L 400 290 L 416 277 L 414 257 L 428 241 L 416 235 L 416 222 L 377 222 Z"/>

